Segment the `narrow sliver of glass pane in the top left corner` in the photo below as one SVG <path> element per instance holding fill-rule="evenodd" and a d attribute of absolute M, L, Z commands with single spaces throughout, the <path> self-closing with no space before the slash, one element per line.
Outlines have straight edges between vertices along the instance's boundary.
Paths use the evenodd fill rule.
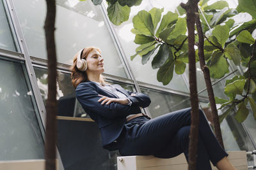
<path fill-rule="evenodd" d="M 17 51 L 6 11 L 4 10 L 3 0 L 0 0 L 0 48 Z"/>

